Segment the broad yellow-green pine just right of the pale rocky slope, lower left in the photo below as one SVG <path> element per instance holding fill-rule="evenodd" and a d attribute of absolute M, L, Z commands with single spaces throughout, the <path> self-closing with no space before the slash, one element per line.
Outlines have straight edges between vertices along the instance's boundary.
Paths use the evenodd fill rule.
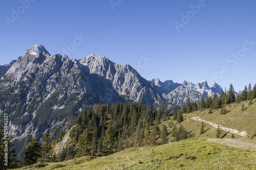
<path fill-rule="evenodd" d="M 89 130 L 86 129 L 83 131 L 83 133 L 80 135 L 78 139 L 77 144 L 77 157 L 86 156 L 91 154 L 91 137 L 89 134 Z"/>

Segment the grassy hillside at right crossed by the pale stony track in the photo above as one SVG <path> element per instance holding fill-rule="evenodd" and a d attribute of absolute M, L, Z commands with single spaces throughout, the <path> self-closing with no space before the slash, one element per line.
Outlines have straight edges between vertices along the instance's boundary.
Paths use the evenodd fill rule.
<path fill-rule="evenodd" d="M 228 131 L 222 131 L 222 136 L 225 138 L 231 138 L 233 134 L 235 138 L 240 138 L 241 135 L 231 133 L 230 129 L 237 130 L 239 132 L 246 131 L 247 135 L 250 135 L 256 131 L 256 102 L 253 100 L 249 106 L 248 101 L 244 102 L 245 109 L 242 111 L 240 104 L 225 105 L 224 107 L 228 111 L 227 114 L 220 114 L 221 109 L 213 110 L 211 114 L 208 113 L 208 109 L 204 111 L 196 111 L 189 114 L 183 114 L 184 121 L 181 123 L 188 131 L 191 131 L 197 137 L 215 138 L 216 128 L 204 123 L 204 133 L 200 135 L 200 128 L 202 122 L 195 120 L 191 117 L 197 117 L 224 127 L 229 128 Z M 171 121 L 171 120 L 169 120 Z"/>

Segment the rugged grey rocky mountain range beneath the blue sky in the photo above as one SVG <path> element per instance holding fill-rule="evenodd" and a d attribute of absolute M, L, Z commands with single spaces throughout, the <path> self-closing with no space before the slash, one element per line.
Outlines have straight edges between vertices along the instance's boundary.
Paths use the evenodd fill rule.
<path fill-rule="evenodd" d="M 69 115 L 95 104 L 133 101 L 173 108 L 188 98 L 199 102 L 221 92 L 220 85 L 206 81 L 147 81 L 130 65 L 94 54 L 80 60 L 51 56 L 40 44 L 0 66 L 0 118 L 9 115 L 9 135 L 16 141 L 28 135 L 40 138 Z"/>

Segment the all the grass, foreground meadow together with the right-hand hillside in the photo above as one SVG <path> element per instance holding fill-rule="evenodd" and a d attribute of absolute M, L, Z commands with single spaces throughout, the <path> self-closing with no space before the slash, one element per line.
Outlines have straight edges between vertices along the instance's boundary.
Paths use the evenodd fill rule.
<path fill-rule="evenodd" d="M 199 116 L 201 119 L 214 122 L 223 127 L 255 133 L 256 102 L 248 106 L 244 103 L 245 110 L 241 110 L 239 104 L 226 105 L 229 111 L 220 115 L 220 109 L 209 114 L 208 110 L 184 114 L 181 123 L 184 128 L 194 134 L 195 138 L 171 142 L 156 147 L 131 148 L 105 157 L 80 157 L 69 161 L 34 164 L 20 169 L 256 169 L 256 151 L 228 147 L 219 142 L 208 141 L 206 138 L 215 138 L 216 129 L 204 124 L 205 132 L 200 134 L 201 122 L 190 119 L 190 116 Z M 203 114 L 204 113 L 204 114 Z M 203 115 L 202 115 L 203 114 Z M 172 128 L 168 126 L 168 120 L 164 122 L 170 133 Z M 160 129 L 161 129 L 160 125 Z M 222 135 L 227 132 L 222 131 Z M 171 135 L 169 141 L 174 140 Z M 224 138 L 231 138 L 227 133 Z M 241 138 L 236 135 L 235 138 Z M 249 139 L 256 143 L 255 138 Z"/>

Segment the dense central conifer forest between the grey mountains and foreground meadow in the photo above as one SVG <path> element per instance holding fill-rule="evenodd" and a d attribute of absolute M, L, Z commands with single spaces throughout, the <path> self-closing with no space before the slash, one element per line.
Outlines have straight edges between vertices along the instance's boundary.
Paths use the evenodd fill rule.
<path fill-rule="evenodd" d="M 72 142 L 59 153 L 58 161 L 80 156 L 106 156 L 125 148 L 164 144 L 172 133 L 175 141 L 190 134 L 181 125 L 163 123 L 169 120 L 163 105 L 152 109 L 150 104 L 131 102 L 96 105 L 82 111 L 70 132 Z M 162 124 L 163 123 L 163 124 Z M 167 126 L 173 128 L 169 132 Z"/>

